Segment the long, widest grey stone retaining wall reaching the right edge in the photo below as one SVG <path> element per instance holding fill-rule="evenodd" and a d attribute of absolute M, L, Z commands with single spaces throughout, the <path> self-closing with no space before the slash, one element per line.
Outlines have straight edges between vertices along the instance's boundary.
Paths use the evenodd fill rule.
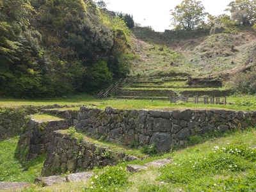
<path fill-rule="evenodd" d="M 216 129 L 245 129 L 256 123 L 256 111 L 220 109 L 184 111 L 123 110 L 107 107 L 104 111 L 81 107 L 77 131 L 115 143 L 155 144 L 157 152 L 183 145 L 189 136 L 200 136 Z"/>

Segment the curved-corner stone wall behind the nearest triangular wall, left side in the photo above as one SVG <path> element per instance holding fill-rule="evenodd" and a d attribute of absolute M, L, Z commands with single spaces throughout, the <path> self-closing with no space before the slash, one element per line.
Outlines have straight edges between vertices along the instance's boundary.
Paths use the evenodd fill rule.
<path fill-rule="evenodd" d="M 47 112 L 49 112 L 49 110 L 47 110 Z M 56 112 L 56 110 L 53 110 L 49 113 L 56 115 Z M 20 133 L 17 145 L 17 157 L 19 157 L 20 161 L 29 161 L 47 152 L 53 132 L 68 129 L 76 123 L 76 111 L 58 111 L 58 115 L 65 117 L 65 119 L 51 120 L 49 122 L 40 122 L 35 119 L 30 119 L 26 122 L 26 126 Z"/>

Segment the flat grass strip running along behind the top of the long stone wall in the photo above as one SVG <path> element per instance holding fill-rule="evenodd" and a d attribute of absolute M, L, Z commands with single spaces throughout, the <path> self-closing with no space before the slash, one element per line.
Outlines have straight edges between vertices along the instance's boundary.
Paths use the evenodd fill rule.
<path fill-rule="evenodd" d="M 256 100 L 255 96 L 241 96 L 241 97 L 227 97 L 227 103 L 233 103 L 236 100 Z M 136 100 L 136 99 L 115 99 L 109 97 L 108 99 L 96 99 L 93 97 L 83 97 L 74 99 L 52 99 L 52 100 L 23 100 L 23 99 L 0 99 L 0 108 L 4 107 L 19 107 L 19 106 L 47 106 L 58 104 L 60 106 L 88 106 L 89 108 L 105 109 L 107 106 L 118 109 L 159 109 L 159 110 L 173 110 L 173 109 L 232 109 L 236 111 L 250 111 L 255 110 L 256 106 L 234 106 L 227 104 L 171 104 L 169 100 Z"/>

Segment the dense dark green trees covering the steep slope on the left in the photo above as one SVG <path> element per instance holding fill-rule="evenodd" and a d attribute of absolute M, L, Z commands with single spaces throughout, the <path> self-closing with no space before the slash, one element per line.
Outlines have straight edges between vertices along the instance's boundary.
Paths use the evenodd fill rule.
<path fill-rule="evenodd" d="M 129 72 L 129 35 L 92 0 L 0 0 L 0 95 L 95 92 Z"/>

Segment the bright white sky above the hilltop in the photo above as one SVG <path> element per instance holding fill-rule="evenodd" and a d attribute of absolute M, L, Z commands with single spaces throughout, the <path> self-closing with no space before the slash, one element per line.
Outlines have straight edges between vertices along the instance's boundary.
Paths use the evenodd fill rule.
<path fill-rule="evenodd" d="M 232 0 L 200 0 L 205 12 L 211 15 L 221 15 Z M 154 31 L 164 32 L 170 27 L 172 16 L 170 10 L 180 4 L 182 0 L 105 0 L 108 10 L 128 13 L 134 22 L 141 27 L 151 26 Z"/>

